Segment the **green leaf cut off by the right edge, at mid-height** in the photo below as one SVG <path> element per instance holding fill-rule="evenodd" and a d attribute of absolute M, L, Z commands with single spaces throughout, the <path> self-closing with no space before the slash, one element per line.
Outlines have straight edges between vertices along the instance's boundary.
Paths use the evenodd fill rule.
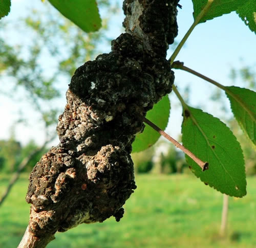
<path fill-rule="evenodd" d="M 226 95 L 239 125 L 256 145 L 256 92 L 236 86 L 226 86 Z"/>

